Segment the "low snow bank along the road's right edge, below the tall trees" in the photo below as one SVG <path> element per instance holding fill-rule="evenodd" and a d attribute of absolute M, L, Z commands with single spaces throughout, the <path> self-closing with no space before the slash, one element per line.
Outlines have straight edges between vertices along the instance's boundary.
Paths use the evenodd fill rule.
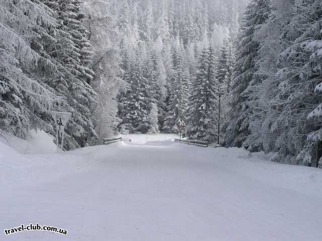
<path fill-rule="evenodd" d="M 270 162 L 270 155 L 250 153 L 243 148 L 216 148 L 208 152 L 226 162 L 226 168 L 235 175 L 243 175 L 263 185 L 322 197 L 322 169 Z"/>

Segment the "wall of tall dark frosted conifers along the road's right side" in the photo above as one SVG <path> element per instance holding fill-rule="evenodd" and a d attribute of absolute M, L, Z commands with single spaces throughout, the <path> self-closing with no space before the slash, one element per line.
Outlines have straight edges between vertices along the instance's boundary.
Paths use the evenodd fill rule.
<path fill-rule="evenodd" d="M 237 41 L 226 146 L 321 167 L 321 17 L 321 1 L 251 1 Z"/>

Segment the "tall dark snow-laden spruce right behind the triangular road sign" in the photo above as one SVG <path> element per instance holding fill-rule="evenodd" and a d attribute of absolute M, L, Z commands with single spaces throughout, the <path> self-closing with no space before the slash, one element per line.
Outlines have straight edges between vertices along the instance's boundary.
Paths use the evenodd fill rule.
<path fill-rule="evenodd" d="M 96 103 L 96 93 L 90 85 L 95 73 L 91 69 L 89 32 L 82 25 L 84 15 L 79 9 L 80 1 L 44 2 L 55 11 L 58 21 L 57 42 L 50 55 L 63 66 L 61 79 L 67 85 L 64 95 L 73 112 L 65 130 L 65 148 L 84 147 L 92 137 L 96 137 L 90 111 L 90 107 Z"/>

